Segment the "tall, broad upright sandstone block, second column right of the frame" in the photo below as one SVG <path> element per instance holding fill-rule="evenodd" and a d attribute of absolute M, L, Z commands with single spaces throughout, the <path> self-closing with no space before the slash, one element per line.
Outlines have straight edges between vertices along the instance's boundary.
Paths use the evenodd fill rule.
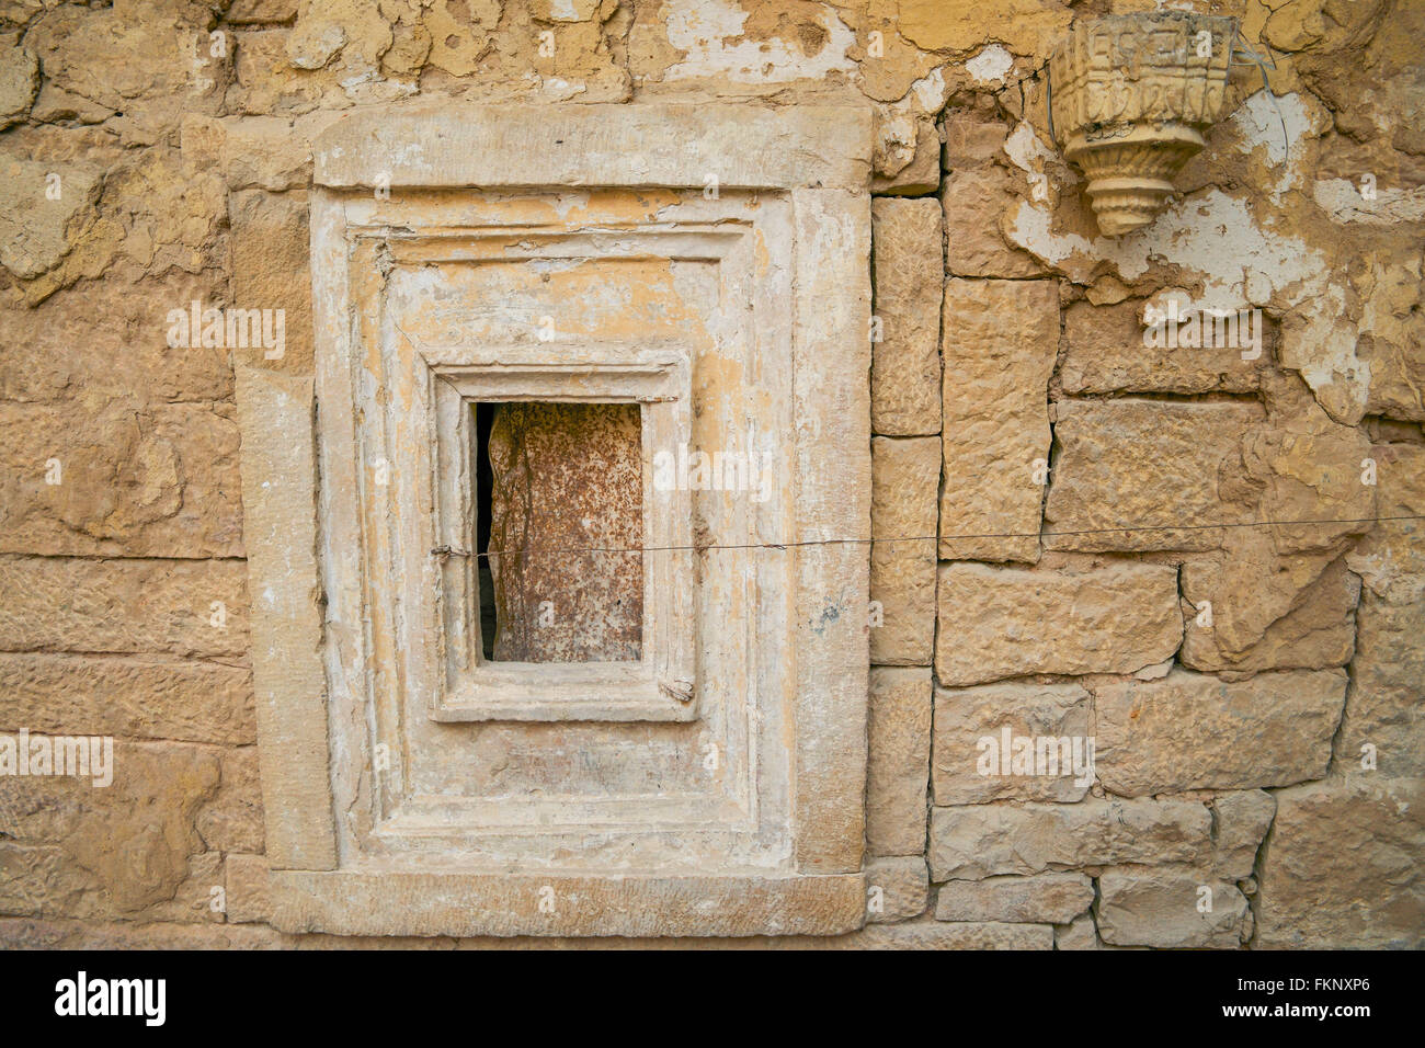
<path fill-rule="evenodd" d="M 1059 287 L 950 279 L 940 322 L 940 559 L 1033 563 L 1049 476 L 1046 389 Z"/>

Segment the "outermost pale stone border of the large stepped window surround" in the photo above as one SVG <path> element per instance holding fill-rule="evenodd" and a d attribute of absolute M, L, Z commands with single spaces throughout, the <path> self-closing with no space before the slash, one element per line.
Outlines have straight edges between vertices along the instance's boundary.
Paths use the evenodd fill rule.
<path fill-rule="evenodd" d="M 400 107 L 341 121 L 322 133 L 314 154 L 316 381 L 245 368 L 238 376 L 272 924 L 292 933 L 418 935 L 841 934 L 861 927 L 869 663 L 869 111 Z M 385 617 L 389 609 L 363 600 L 363 565 L 378 550 L 368 548 L 373 532 L 361 519 L 369 512 L 366 481 L 358 458 L 341 446 L 341 435 L 355 432 L 358 416 L 373 404 L 363 398 L 373 391 L 353 388 L 342 368 L 348 345 L 362 339 L 352 321 L 362 299 L 353 282 L 362 274 L 375 278 L 389 265 L 393 247 L 409 248 L 410 231 L 389 230 L 362 245 L 349 235 L 349 208 L 359 210 L 375 190 L 388 188 L 703 192 L 710 180 L 724 191 L 785 201 L 789 234 L 785 242 L 761 244 L 789 274 L 785 317 L 772 337 L 789 344 L 782 352 L 792 372 L 785 438 L 794 445 L 792 475 L 782 479 L 787 533 L 777 539 L 787 546 L 777 556 L 785 558 L 779 577 L 791 593 L 782 632 L 758 642 L 778 646 L 778 672 L 788 682 L 787 692 L 772 699 L 775 709 L 762 711 L 771 713 L 777 729 L 764 737 L 785 747 L 788 770 L 784 780 L 757 774 L 767 757 L 754 747 L 752 794 L 744 807 L 755 816 L 755 833 L 738 838 L 762 850 L 707 858 L 718 853 L 718 834 L 730 831 L 717 828 L 698 853 L 704 861 L 690 868 L 674 856 L 687 840 L 710 833 L 693 820 L 685 833 L 650 827 L 668 838 L 663 863 L 630 867 L 596 858 L 583 867 L 512 873 L 517 867 L 465 861 L 466 828 L 430 823 L 439 820 L 435 811 L 400 847 L 366 851 L 372 836 L 353 837 L 342 820 L 358 803 L 375 811 L 362 818 L 380 816 L 386 787 L 372 786 L 375 714 L 368 696 L 400 683 L 370 644 L 389 649 L 400 642 Z M 353 265 L 362 251 L 369 257 Z M 452 375 L 479 369 L 494 352 L 486 346 L 484 358 L 440 359 L 439 348 L 426 351 L 425 378 L 436 385 L 449 381 L 439 375 L 442 368 Z M 628 354 L 621 359 L 616 385 L 646 381 L 627 371 Z M 526 352 L 523 364 L 537 371 L 540 362 Z M 598 362 L 589 356 L 583 364 Z M 671 381 L 673 391 L 646 391 L 641 395 L 654 398 L 646 404 L 675 398 L 678 379 L 670 376 L 677 368 L 665 366 L 657 352 L 647 364 L 663 376 L 658 381 Z M 596 399 L 641 395 L 610 386 Z M 455 388 L 453 398 L 447 392 L 436 399 L 445 402 L 432 412 L 439 432 L 439 418 L 467 398 Z M 432 433 L 430 446 L 447 445 Z M 440 473 L 435 466 L 428 482 L 442 483 Z M 449 520 L 432 526 L 447 528 Z M 430 637 L 432 644 L 446 640 L 447 635 Z M 667 649 L 674 672 L 677 647 L 674 642 Z M 537 694 L 512 703 L 526 700 L 526 716 L 549 716 Z M 690 703 L 667 694 L 650 702 L 673 702 L 690 710 L 677 716 L 698 716 L 697 694 Z M 447 703 L 446 711 L 460 704 Z M 432 703 L 430 714 L 442 717 L 439 703 Z M 774 787 L 785 796 L 761 796 Z M 557 905 L 546 905 L 550 898 Z"/>

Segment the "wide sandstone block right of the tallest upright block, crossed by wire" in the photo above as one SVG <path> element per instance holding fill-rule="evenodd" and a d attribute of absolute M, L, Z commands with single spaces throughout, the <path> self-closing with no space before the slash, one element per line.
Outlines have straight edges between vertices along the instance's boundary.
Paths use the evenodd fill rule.
<path fill-rule="evenodd" d="M 1057 408 L 1046 549 L 1216 549 L 1224 529 L 1210 525 L 1253 519 L 1231 482 L 1260 406 L 1060 401 Z"/>

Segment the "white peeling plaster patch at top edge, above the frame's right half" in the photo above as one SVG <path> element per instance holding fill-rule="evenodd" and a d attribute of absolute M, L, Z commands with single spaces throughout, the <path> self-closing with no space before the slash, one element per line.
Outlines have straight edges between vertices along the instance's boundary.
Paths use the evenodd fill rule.
<path fill-rule="evenodd" d="M 740 84 L 764 84 L 817 80 L 835 70 L 851 73 L 856 67 L 846 57 L 856 36 L 829 11 L 817 19 L 826 30 L 826 43 L 815 56 L 807 56 L 797 44 L 778 37 L 724 44 L 724 40 L 742 36 L 748 19 L 747 11 L 728 0 L 670 0 L 665 10 L 668 43 L 687 51 L 687 57 L 670 66 L 664 80 L 727 77 Z"/>

